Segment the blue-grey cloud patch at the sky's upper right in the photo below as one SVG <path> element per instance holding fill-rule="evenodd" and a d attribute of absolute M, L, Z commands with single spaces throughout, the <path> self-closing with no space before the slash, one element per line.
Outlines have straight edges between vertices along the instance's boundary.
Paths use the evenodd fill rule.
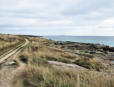
<path fill-rule="evenodd" d="M 113 0 L 80 0 L 80 3 L 73 3 L 63 12 L 64 15 L 84 15 L 93 11 L 114 7 Z"/>

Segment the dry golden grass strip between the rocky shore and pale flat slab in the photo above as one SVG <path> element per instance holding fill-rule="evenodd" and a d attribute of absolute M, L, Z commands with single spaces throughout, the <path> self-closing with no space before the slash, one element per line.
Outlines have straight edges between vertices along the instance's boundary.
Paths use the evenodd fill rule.
<path fill-rule="evenodd" d="M 40 44 L 32 42 L 32 44 L 28 46 L 28 49 L 26 49 L 25 53 L 29 54 L 28 52 L 31 52 L 34 56 L 37 56 L 39 58 L 43 58 L 46 60 L 60 61 L 65 63 L 71 63 L 72 59 L 77 58 L 76 55 L 73 55 L 71 53 L 65 53 L 59 48 L 45 46 L 41 42 Z M 25 53 L 23 54 L 25 55 Z"/>

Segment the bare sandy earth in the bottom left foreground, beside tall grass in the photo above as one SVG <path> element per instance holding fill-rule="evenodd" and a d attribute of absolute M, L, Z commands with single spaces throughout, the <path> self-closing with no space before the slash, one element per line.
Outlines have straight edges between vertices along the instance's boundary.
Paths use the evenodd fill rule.
<path fill-rule="evenodd" d="M 12 60 L 14 58 L 17 58 L 18 53 L 19 52 L 17 52 L 15 55 L 13 55 L 12 59 L 7 60 L 5 63 L 3 63 L 1 65 L 0 87 L 12 87 L 11 83 L 12 83 L 12 79 L 14 78 L 14 76 L 16 74 L 20 73 L 21 71 L 23 71 L 25 64 L 21 63 L 18 59 L 16 59 L 16 61 L 18 62 L 18 66 L 10 65 Z"/>

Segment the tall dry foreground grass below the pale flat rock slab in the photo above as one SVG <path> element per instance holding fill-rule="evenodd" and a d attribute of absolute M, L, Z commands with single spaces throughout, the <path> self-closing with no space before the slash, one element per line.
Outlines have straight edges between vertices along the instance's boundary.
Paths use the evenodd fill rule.
<path fill-rule="evenodd" d="M 15 78 L 14 87 L 113 87 L 111 75 L 96 71 L 64 70 L 50 66 L 46 60 L 32 58 Z M 20 82 L 20 83 L 19 83 Z"/>

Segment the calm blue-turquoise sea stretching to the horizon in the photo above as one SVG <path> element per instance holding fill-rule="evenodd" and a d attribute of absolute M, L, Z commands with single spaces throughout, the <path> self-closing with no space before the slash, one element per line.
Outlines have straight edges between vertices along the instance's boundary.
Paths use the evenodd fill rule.
<path fill-rule="evenodd" d="M 114 47 L 114 36 L 44 36 L 44 38 L 55 41 L 104 44 Z"/>

